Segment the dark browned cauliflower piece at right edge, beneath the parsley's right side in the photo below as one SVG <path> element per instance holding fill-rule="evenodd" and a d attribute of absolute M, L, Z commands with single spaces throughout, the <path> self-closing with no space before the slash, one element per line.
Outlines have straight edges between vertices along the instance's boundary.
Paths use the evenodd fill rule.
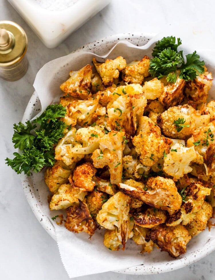
<path fill-rule="evenodd" d="M 205 66 L 204 68 L 204 73 L 199 74 L 193 81 L 186 82 L 185 86 L 187 99 L 198 105 L 206 103 L 213 80 L 211 72 L 209 73 Z"/>

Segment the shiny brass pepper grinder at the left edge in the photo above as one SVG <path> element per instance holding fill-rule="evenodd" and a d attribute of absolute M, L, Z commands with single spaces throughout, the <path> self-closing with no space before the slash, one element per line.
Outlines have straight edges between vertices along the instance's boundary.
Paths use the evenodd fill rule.
<path fill-rule="evenodd" d="M 0 21 L 0 78 L 16 81 L 26 74 L 27 45 L 26 33 L 18 24 L 7 20 Z"/>

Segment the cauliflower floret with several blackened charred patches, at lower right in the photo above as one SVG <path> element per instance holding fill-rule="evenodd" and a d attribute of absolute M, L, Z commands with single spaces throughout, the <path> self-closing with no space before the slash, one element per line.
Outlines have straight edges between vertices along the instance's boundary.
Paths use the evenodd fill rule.
<path fill-rule="evenodd" d="M 166 221 L 167 226 L 187 225 L 195 218 L 195 213 L 204 204 L 204 199 L 210 194 L 211 189 L 205 188 L 200 182 L 193 182 L 182 192 L 183 204 L 181 208 Z"/>

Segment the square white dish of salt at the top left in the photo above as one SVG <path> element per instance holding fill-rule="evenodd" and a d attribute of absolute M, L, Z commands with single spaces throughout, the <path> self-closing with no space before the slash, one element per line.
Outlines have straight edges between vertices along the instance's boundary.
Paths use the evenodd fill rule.
<path fill-rule="evenodd" d="M 48 48 L 54 48 L 111 0 L 8 0 Z"/>

